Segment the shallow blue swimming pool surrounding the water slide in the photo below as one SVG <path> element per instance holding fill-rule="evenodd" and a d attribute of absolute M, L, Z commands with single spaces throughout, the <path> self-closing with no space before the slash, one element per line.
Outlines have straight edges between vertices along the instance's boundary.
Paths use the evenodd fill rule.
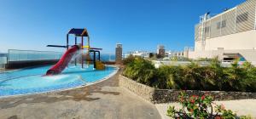
<path fill-rule="evenodd" d="M 44 76 L 51 65 L 0 73 L 0 97 L 17 94 L 35 94 L 53 90 L 76 88 L 109 77 L 117 71 L 106 66 L 104 71 L 93 70 L 93 65 L 69 65 L 60 75 Z"/>

